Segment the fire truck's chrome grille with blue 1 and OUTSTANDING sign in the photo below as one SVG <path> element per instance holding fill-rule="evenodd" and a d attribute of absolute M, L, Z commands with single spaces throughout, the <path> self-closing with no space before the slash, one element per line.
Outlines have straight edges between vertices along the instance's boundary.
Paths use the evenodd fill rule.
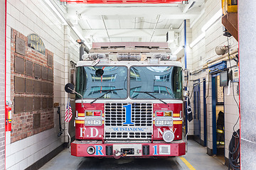
<path fill-rule="evenodd" d="M 107 140 L 149 140 L 152 135 L 153 105 L 152 103 L 132 103 L 132 119 L 129 125 L 124 106 L 129 103 L 105 103 L 105 139 Z M 127 110 L 129 110 L 127 108 Z M 127 119 L 129 122 L 129 119 Z"/>

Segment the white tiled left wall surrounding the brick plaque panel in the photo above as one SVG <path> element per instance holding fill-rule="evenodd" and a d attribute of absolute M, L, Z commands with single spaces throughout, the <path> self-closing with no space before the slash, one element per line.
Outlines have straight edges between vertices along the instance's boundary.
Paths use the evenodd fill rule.
<path fill-rule="evenodd" d="M 63 26 L 60 19 L 43 1 L 7 1 L 7 101 L 11 99 L 11 28 L 26 36 L 36 33 L 41 37 L 46 48 L 53 52 L 53 102 L 60 103 L 61 123 L 62 128 L 65 128 L 63 135 L 58 137 L 58 114 L 57 109 L 54 108 L 54 128 L 16 142 L 11 142 L 11 132 L 6 133 L 6 169 L 26 169 L 60 147 L 63 142 L 68 142 L 67 123 L 64 123 L 68 94 L 65 93 L 64 86 L 70 81 L 70 60 L 73 62 L 79 60 L 79 47 L 74 42 L 78 37 L 70 28 Z M 75 108 L 73 108 L 73 113 L 75 113 Z M 73 135 L 71 134 L 71 137 Z"/>

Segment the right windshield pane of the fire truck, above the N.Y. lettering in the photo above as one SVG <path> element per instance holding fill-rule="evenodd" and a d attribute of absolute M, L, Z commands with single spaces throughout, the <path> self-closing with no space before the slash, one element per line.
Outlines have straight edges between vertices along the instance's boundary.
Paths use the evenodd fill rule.
<path fill-rule="evenodd" d="M 130 98 L 182 99 L 181 67 L 131 67 L 129 78 Z"/>

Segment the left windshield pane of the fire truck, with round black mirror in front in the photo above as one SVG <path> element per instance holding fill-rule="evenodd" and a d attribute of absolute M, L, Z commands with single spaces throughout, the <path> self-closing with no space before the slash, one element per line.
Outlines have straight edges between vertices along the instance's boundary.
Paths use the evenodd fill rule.
<path fill-rule="evenodd" d="M 97 69 L 104 70 L 101 77 L 95 75 Z M 127 67 L 121 66 L 78 67 L 75 91 L 83 98 L 127 98 L 127 72 Z"/>

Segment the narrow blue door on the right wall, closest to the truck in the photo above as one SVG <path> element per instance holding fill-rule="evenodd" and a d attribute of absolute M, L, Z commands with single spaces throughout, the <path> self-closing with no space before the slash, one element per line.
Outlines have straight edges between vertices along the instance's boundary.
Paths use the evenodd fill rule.
<path fill-rule="evenodd" d="M 194 123 L 194 140 L 201 144 L 201 116 L 200 116 L 200 80 L 194 81 L 193 87 L 193 123 Z"/>

